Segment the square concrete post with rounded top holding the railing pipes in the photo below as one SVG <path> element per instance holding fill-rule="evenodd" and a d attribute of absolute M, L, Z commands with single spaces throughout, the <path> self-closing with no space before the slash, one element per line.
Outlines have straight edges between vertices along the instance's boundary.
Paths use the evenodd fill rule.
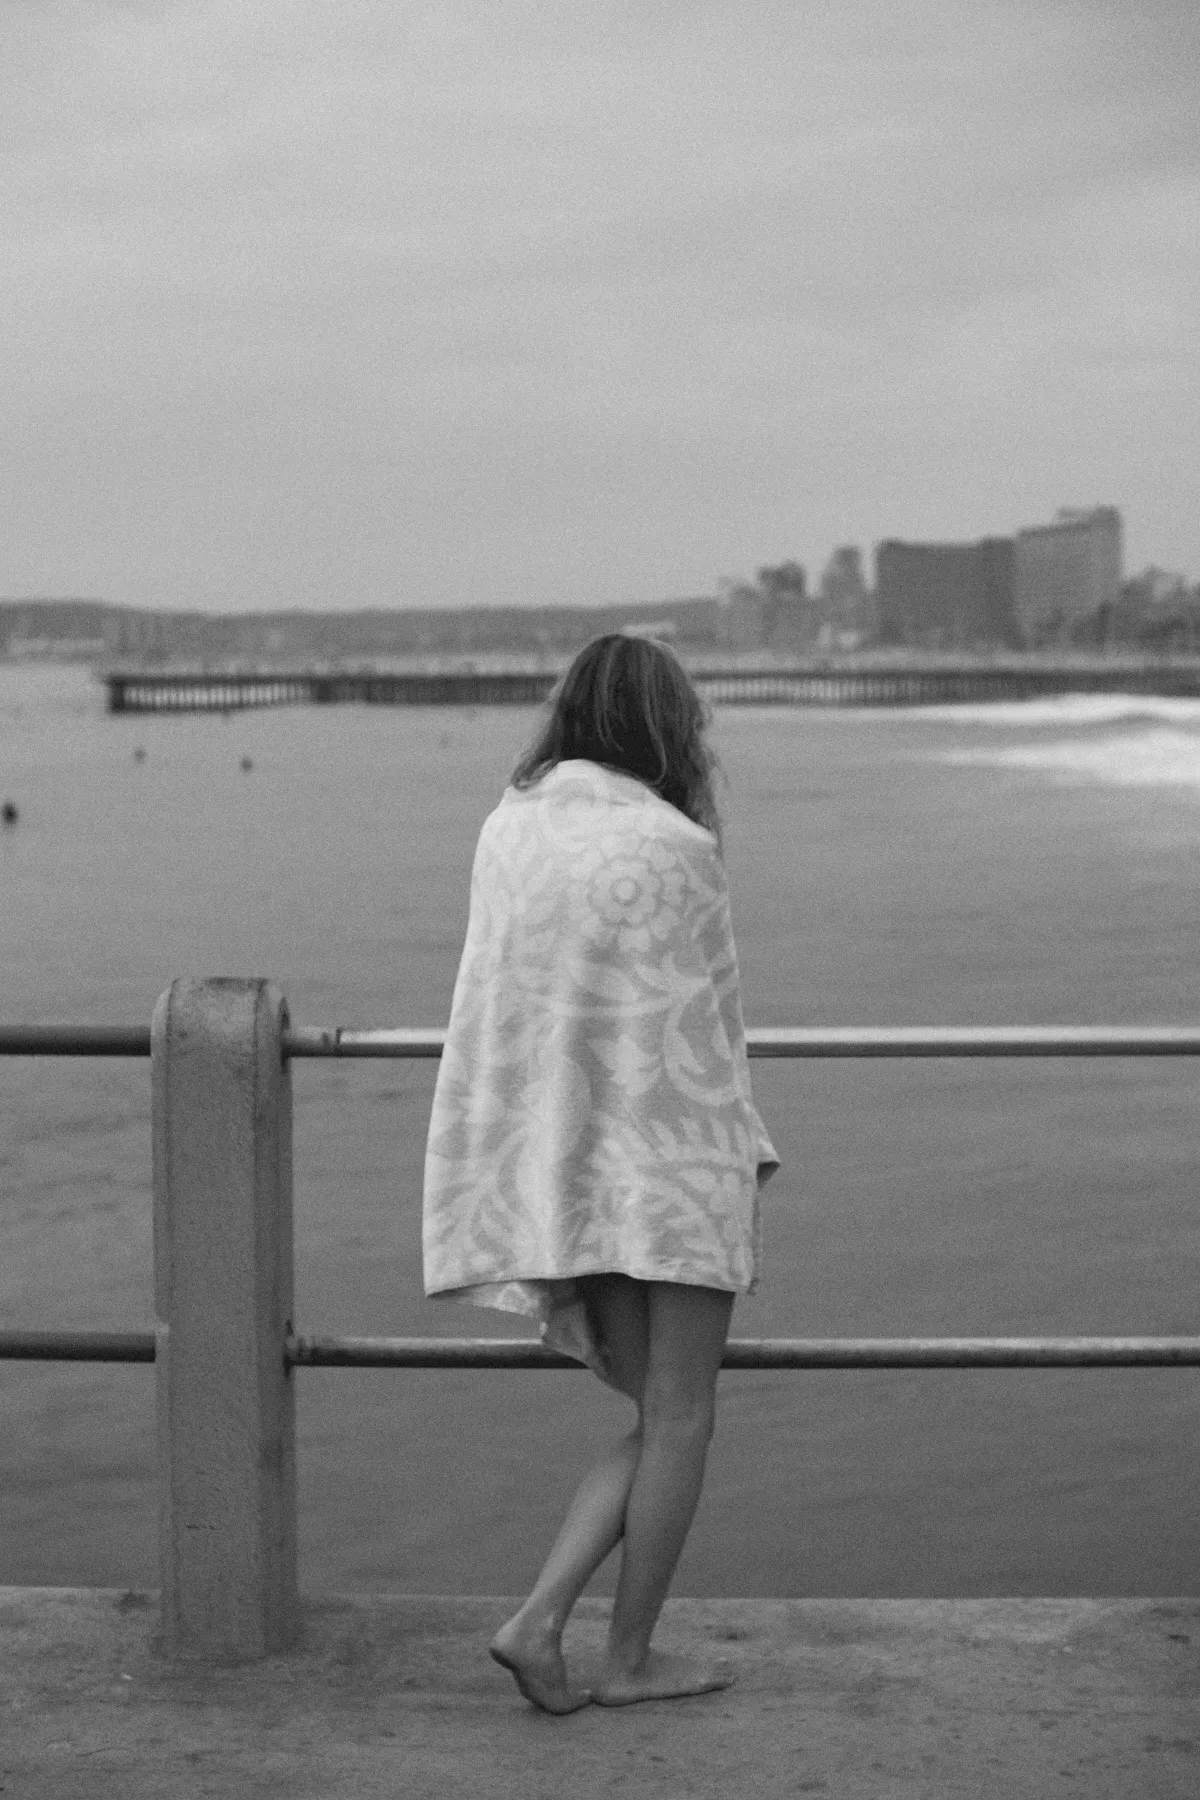
<path fill-rule="evenodd" d="M 175 981 L 155 1008 L 155 1377 L 164 1649 L 299 1636 L 291 1078 L 266 981 Z"/>

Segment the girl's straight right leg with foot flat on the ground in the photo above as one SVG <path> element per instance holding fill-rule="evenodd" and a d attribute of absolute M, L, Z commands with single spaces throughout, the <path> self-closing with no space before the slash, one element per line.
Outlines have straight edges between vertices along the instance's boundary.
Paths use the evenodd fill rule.
<path fill-rule="evenodd" d="M 732 1679 L 720 1665 L 651 1651 L 649 1638 L 700 1499 L 734 1296 L 653 1282 L 648 1298 L 642 1447 L 624 1508 L 604 1672 L 592 1696 L 603 1706 L 707 1694 Z"/>

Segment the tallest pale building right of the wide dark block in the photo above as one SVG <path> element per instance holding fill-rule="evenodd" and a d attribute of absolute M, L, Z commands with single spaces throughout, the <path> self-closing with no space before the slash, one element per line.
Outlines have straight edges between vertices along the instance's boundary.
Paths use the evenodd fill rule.
<path fill-rule="evenodd" d="M 1121 513 L 1063 506 L 1016 533 L 1016 623 L 1027 644 L 1063 641 L 1083 619 L 1105 628 L 1121 598 Z"/>

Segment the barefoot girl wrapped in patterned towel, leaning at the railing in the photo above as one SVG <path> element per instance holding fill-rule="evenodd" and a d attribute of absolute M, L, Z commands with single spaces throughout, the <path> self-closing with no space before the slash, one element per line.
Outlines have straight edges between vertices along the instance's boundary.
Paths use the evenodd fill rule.
<path fill-rule="evenodd" d="M 703 1694 L 651 1651 L 691 1526 L 757 1190 L 707 715 L 662 644 L 597 637 L 486 821 L 425 1165 L 425 1289 L 533 1314 L 637 1406 L 491 1654 L 547 1712 Z M 603 1669 L 567 1616 L 621 1544 Z"/>

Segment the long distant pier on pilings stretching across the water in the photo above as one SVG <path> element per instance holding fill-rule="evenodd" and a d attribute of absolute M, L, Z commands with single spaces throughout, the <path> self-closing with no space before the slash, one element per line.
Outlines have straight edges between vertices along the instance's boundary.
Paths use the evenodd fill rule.
<path fill-rule="evenodd" d="M 1200 662 L 1079 661 L 907 666 L 820 662 L 693 668 L 718 706 L 952 706 L 1063 693 L 1200 698 Z M 540 706 L 556 670 L 293 673 L 140 671 L 104 677 L 110 713 L 234 713 L 261 706 Z"/>

